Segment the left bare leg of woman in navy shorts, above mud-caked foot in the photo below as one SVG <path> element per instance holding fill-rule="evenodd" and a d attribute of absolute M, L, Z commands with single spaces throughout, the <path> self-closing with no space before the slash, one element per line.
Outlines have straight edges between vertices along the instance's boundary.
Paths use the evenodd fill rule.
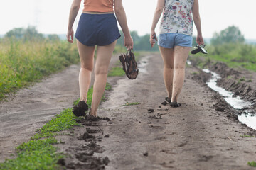
<path fill-rule="evenodd" d="M 87 101 L 87 93 L 90 87 L 92 69 L 93 69 L 93 57 L 95 52 L 95 46 L 86 46 L 81 42 L 78 42 L 78 52 L 80 56 L 81 69 L 79 73 L 79 89 L 80 89 L 80 101 Z"/>

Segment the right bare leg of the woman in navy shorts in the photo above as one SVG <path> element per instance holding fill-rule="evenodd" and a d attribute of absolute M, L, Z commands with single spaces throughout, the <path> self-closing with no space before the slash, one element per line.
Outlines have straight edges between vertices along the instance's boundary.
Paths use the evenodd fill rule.
<path fill-rule="evenodd" d="M 92 107 L 90 114 L 96 116 L 102 95 L 107 83 L 107 70 L 117 40 L 110 45 L 97 46 L 97 57 L 95 62 L 95 82 L 93 84 Z"/>

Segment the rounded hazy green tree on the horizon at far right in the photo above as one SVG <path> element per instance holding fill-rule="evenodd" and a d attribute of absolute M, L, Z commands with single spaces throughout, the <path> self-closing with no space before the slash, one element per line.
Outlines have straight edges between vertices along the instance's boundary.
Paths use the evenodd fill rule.
<path fill-rule="evenodd" d="M 238 27 L 229 26 L 225 30 L 220 31 L 220 33 L 214 33 L 210 43 L 212 45 L 223 45 L 225 43 L 243 43 L 245 42 L 244 35 Z"/>

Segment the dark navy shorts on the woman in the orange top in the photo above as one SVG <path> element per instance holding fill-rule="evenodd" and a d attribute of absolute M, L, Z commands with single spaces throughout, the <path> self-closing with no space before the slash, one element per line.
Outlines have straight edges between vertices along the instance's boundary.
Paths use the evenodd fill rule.
<path fill-rule="evenodd" d="M 82 13 L 75 32 L 75 38 L 83 45 L 110 45 L 120 37 L 114 13 Z"/>

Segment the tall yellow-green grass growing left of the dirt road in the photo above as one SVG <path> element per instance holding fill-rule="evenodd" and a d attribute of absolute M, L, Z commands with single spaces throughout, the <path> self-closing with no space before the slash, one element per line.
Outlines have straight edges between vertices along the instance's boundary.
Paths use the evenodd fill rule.
<path fill-rule="evenodd" d="M 8 93 L 78 62 L 76 46 L 64 41 L 0 42 L 0 101 Z"/>

